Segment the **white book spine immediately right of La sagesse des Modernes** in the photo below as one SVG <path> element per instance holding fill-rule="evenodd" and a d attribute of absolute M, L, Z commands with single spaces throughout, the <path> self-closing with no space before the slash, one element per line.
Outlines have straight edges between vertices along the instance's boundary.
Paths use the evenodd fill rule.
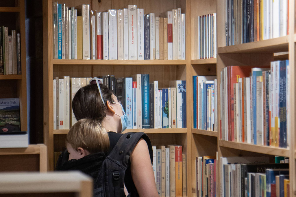
<path fill-rule="evenodd" d="M 144 9 L 137 9 L 138 60 L 144 60 Z"/>

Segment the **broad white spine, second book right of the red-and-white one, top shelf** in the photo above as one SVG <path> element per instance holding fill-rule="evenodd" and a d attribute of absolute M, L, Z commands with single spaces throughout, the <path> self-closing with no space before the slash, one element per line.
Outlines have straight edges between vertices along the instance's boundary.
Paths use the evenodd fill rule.
<path fill-rule="evenodd" d="M 117 10 L 108 10 L 109 22 L 109 59 L 117 60 Z"/>

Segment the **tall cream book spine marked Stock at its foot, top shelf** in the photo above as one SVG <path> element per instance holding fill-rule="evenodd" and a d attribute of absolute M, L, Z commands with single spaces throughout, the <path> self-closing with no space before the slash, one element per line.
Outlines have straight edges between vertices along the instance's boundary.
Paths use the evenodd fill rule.
<path fill-rule="evenodd" d="M 89 5 L 82 5 L 82 59 L 90 59 Z"/>

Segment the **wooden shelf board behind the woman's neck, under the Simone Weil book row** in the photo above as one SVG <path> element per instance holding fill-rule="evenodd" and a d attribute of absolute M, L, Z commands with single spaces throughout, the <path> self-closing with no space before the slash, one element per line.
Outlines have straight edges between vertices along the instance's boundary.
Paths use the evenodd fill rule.
<path fill-rule="evenodd" d="M 54 135 L 58 134 L 68 134 L 69 129 L 57 129 L 54 130 Z M 123 133 L 128 132 L 144 132 L 145 134 L 177 134 L 177 133 L 187 133 L 186 128 L 143 128 L 143 129 L 126 129 Z"/>

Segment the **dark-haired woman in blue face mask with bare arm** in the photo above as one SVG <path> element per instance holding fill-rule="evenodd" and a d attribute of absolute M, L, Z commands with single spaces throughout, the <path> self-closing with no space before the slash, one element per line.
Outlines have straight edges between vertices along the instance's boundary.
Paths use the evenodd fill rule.
<path fill-rule="evenodd" d="M 120 133 L 126 129 L 125 112 L 116 96 L 106 86 L 99 85 L 96 77 L 90 83 L 90 85 L 80 88 L 75 94 L 72 109 L 77 120 L 82 118 L 97 120 L 109 131 L 108 155 L 120 138 Z M 116 131 L 116 133 L 112 131 Z M 149 149 L 151 149 L 151 144 L 148 148 L 146 141 L 140 139 L 131 153 L 130 165 L 125 175 L 127 190 L 130 191 L 135 187 L 140 197 L 159 196 Z"/>

